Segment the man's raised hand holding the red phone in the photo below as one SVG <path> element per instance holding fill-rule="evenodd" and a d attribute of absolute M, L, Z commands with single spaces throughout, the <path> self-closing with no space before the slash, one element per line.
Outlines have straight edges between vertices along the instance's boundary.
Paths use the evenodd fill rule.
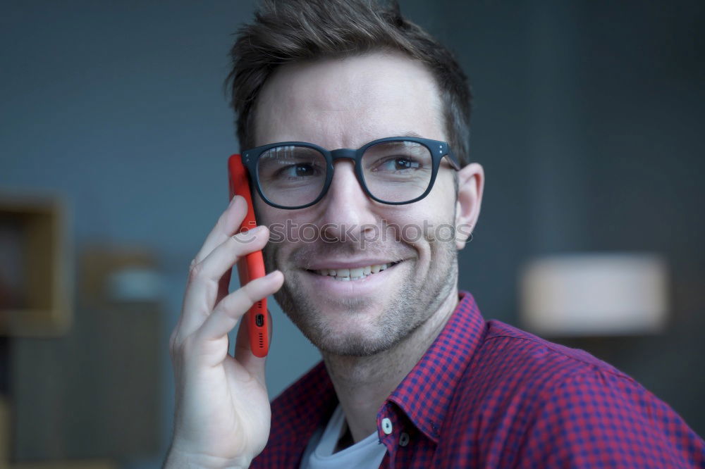
<path fill-rule="evenodd" d="M 284 280 L 277 270 L 228 294 L 232 266 L 269 237 L 262 226 L 233 236 L 246 210 L 245 199 L 233 198 L 191 263 L 170 340 L 176 410 L 165 467 L 247 467 L 269 438 L 264 358 L 250 351 L 247 326 L 238 331 L 235 357 L 228 354 L 228 332 Z"/>

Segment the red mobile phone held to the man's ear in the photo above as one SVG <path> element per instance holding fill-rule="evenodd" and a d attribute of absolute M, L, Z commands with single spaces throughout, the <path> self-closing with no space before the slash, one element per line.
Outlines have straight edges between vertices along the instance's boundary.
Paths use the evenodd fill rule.
<path fill-rule="evenodd" d="M 251 230 L 257 227 L 255 221 L 255 208 L 252 206 L 252 196 L 250 194 L 250 182 L 247 180 L 247 170 L 243 165 L 240 155 L 232 155 L 228 158 L 228 180 L 230 182 L 230 198 L 239 195 L 245 197 L 247 201 L 247 215 L 240 225 L 238 232 Z M 250 280 L 264 277 L 264 258 L 262 251 L 255 251 L 247 254 L 245 258 L 238 261 L 238 275 L 240 275 L 240 285 L 247 284 Z M 250 335 L 250 348 L 252 354 L 263 357 L 269 352 L 269 315 L 266 311 L 266 298 L 263 298 L 245 313 L 247 332 Z"/>

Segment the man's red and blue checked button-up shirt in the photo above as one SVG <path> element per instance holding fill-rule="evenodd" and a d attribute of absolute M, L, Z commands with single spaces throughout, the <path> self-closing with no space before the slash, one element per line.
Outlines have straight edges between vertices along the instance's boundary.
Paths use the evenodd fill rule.
<path fill-rule="evenodd" d="M 272 403 L 253 468 L 298 468 L 338 404 L 322 363 Z M 382 468 L 705 468 L 673 409 L 581 350 L 485 321 L 469 293 L 377 414 Z"/>

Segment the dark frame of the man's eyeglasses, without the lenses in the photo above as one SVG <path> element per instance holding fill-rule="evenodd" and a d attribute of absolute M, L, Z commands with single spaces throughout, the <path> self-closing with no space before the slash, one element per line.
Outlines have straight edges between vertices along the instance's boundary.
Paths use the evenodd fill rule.
<path fill-rule="evenodd" d="M 412 199 L 410 201 L 403 201 L 403 202 L 389 202 L 389 201 L 384 201 L 381 199 L 378 199 L 375 197 L 371 192 L 369 192 L 369 189 L 367 188 L 367 183 L 364 182 L 364 175 L 362 175 L 362 155 L 364 154 L 367 149 L 369 149 L 370 146 L 374 145 L 379 145 L 387 142 L 414 142 L 417 144 L 422 144 L 425 146 L 429 153 L 431 154 L 431 161 L 433 163 L 433 168 L 431 168 L 431 180 L 429 181 L 429 187 L 426 188 L 423 194 L 420 196 L 416 197 L 415 199 Z M 275 204 L 271 200 L 267 199 L 267 197 L 264 195 L 264 192 L 262 191 L 262 187 L 259 185 L 259 174 L 257 173 L 257 162 L 259 161 L 259 157 L 264 154 L 267 150 L 276 148 L 278 146 L 305 146 L 310 149 L 314 149 L 316 151 L 319 151 L 321 155 L 326 158 L 326 182 L 323 185 L 323 188 L 321 189 L 321 194 L 314 199 L 314 201 L 309 202 L 309 204 L 305 205 L 300 205 L 300 206 L 295 206 L 295 207 L 288 207 L 288 206 L 282 206 L 279 204 Z M 360 184 L 360 187 L 362 187 L 362 190 L 364 191 L 367 196 L 376 201 L 379 202 L 380 204 L 386 204 L 386 205 L 405 205 L 405 204 L 413 204 L 414 202 L 417 202 L 421 199 L 423 199 L 425 196 L 431 192 L 431 189 L 434 187 L 434 183 L 436 182 L 436 175 L 438 174 L 439 167 L 441 165 L 441 161 L 443 160 L 443 157 L 448 157 L 448 163 L 450 163 L 450 166 L 458 171 L 460 170 L 460 163 L 458 162 L 458 158 L 453 154 L 452 151 L 450 151 L 450 147 L 446 142 L 441 142 L 439 140 L 431 140 L 431 139 L 424 139 L 424 138 L 419 138 L 419 137 L 387 137 L 384 139 L 377 139 L 373 140 L 372 142 L 369 142 L 367 144 L 364 144 L 361 146 L 359 149 L 347 149 L 347 148 L 342 148 L 342 149 L 337 149 L 337 150 L 327 150 L 324 149 L 321 146 L 318 146 L 316 144 L 311 144 L 308 142 L 277 142 L 273 144 L 266 144 L 262 146 L 256 146 L 253 149 L 245 150 L 243 151 L 243 154 L 241 158 L 243 159 L 243 165 L 245 165 L 245 168 L 247 168 L 247 173 L 250 174 L 250 181 L 254 180 L 256 182 L 255 187 L 257 187 L 257 193 L 259 194 L 260 197 L 262 197 L 262 200 L 264 200 L 267 204 L 276 207 L 276 208 L 283 208 L 284 210 L 298 210 L 300 208 L 306 208 L 310 207 L 312 205 L 318 204 L 321 199 L 328 194 L 328 189 L 331 187 L 331 182 L 333 182 L 333 171 L 335 170 L 335 167 L 333 166 L 333 163 L 336 160 L 341 160 L 341 159 L 350 159 L 355 162 L 355 177 L 357 177 L 357 182 Z"/>

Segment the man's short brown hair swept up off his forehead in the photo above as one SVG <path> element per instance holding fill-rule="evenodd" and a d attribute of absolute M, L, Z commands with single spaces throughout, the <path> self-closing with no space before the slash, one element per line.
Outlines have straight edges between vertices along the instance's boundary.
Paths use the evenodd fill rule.
<path fill-rule="evenodd" d="M 401 15 L 397 1 L 259 1 L 255 21 L 238 32 L 226 79 L 240 148 L 255 146 L 252 111 L 278 65 L 379 50 L 400 51 L 428 67 L 441 92 L 448 144 L 461 165 L 469 163 L 472 95 L 467 77 L 446 47 Z"/>

